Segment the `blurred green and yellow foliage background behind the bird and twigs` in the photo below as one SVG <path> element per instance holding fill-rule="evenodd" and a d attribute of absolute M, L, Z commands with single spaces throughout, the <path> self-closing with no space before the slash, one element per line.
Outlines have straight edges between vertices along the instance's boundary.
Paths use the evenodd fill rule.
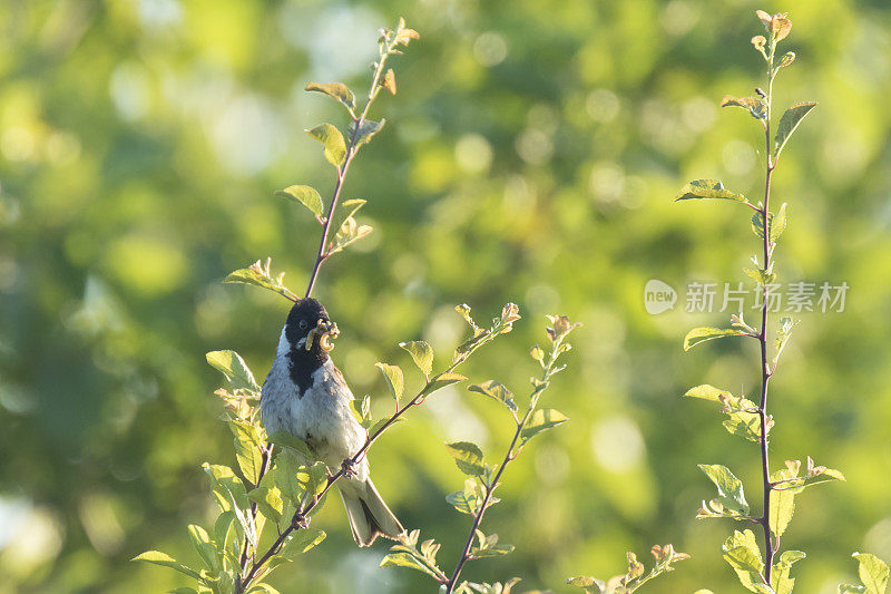
<path fill-rule="evenodd" d="M 771 409 L 775 465 L 813 456 L 848 483 L 810 489 L 783 537 L 807 559 L 804 593 L 835 592 L 854 551 L 891 559 L 891 8 L 789 0 L 4 0 L 0 3 L 0 592 L 151 592 L 185 585 L 129 563 L 148 548 L 195 561 L 185 526 L 214 510 L 199 466 L 234 464 L 204 360 L 234 349 L 268 370 L 288 303 L 219 283 L 273 257 L 296 292 L 317 242 L 305 212 L 273 196 L 295 183 L 327 199 L 333 169 L 303 129 L 343 124 L 310 81 L 368 84 L 376 29 L 402 16 L 422 39 L 394 59 L 388 125 L 355 162 L 346 197 L 369 199 L 370 240 L 323 269 L 354 391 L 390 402 L 373 367 L 411 366 L 402 340 L 444 361 L 467 302 L 506 301 L 523 321 L 464 369 L 518 395 L 545 314 L 585 323 L 547 393 L 571 418 L 532 442 L 484 525 L 517 545 L 466 577 L 518 575 L 570 592 L 570 575 L 624 571 L 625 551 L 693 555 L 647 592 L 740 586 L 721 559 L 730 522 L 694 515 L 725 464 L 757 508 L 756 446 L 728 436 L 688 387 L 755 393 L 753 345 L 684 354 L 692 282 L 746 282 L 748 213 L 672 203 L 688 179 L 752 196 L 760 128 L 724 94 L 763 78 L 755 9 L 790 11 L 799 58 L 776 106 L 816 99 L 784 153 L 775 199 L 790 225 L 781 280 L 848 282 L 843 312 L 803 313 Z M 650 315 L 644 285 L 675 286 Z M 750 285 L 751 286 L 751 285 Z M 775 323 L 775 322 L 774 322 Z M 413 381 L 418 378 L 413 377 Z M 462 477 L 442 447 L 507 446 L 497 403 L 446 391 L 372 450 L 378 486 L 407 526 L 443 543 L 468 529 L 443 496 Z M 282 592 L 424 592 L 408 569 L 359 551 L 340 503 L 330 536 L 272 581 Z"/>

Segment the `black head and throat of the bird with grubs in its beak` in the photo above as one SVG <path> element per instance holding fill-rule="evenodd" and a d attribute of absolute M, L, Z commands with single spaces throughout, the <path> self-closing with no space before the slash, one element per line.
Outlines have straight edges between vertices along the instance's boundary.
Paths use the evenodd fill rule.
<path fill-rule="evenodd" d="M 325 308 L 312 298 L 297 301 L 285 322 L 285 338 L 290 345 L 291 376 L 295 383 L 305 389 L 313 371 L 327 361 L 333 349 L 332 340 L 337 338 L 337 324 L 333 323 Z"/>

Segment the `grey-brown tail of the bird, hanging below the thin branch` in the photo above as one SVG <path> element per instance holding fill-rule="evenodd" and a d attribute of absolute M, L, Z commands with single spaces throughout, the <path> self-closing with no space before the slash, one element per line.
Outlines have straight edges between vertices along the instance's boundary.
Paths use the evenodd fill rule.
<path fill-rule="evenodd" d="M 355 478 L 340 481 L 337 490 L 359 546 L 371 546 L 378 536 L 400 541 L 405 535 L 405 528 L 386 507 L 371 477 L 364 481 Z"/>

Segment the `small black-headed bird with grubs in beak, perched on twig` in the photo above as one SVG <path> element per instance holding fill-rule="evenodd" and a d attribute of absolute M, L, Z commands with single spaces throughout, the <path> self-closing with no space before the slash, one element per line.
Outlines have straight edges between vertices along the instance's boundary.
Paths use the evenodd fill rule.
<path fill-rule="evenodd" d="M 260 399 L 266 434 L 284 430 L 304 440 L 329 468 L 342 467 L 368 438 L 350 409 L 353 393 L 329 356 L 339 333 L 322 303 L 309 296 L 297 300 Z M 355 543 L 366 547 L 379 536 L 404 539 L 405 528 L 371 480 L 368 456 L 346 468 L 335 485 Z"/>

